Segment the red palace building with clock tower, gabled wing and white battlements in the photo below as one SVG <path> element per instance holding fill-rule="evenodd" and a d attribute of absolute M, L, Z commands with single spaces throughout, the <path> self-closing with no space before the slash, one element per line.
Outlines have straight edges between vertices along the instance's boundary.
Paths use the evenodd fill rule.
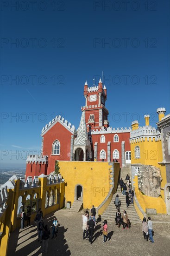
<path fill-rule="evenodd" d="M 55 161 L 104 161 L 117 159 L 120 166 L 131 162 L 131 128 L 109 127 L 105 107 L 107 89 L 100 79 L 98 86 L 84 85 L 85 106 L 78 131 L 60 115 L 42 129 L 42 155 L 29 156 L 26 176 L 50 174 Z"/>

